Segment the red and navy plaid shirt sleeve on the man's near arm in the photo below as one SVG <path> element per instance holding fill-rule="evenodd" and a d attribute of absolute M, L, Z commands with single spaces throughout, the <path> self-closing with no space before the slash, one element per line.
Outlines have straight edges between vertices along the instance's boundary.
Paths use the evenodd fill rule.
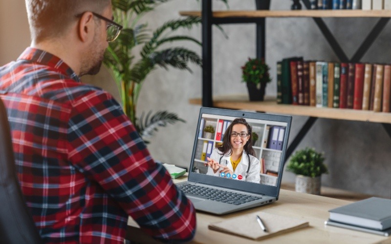
<path fill-rule="evenodd" d="M 73 104 L 68 128 L 69 160 L 98 183 L 149 235 L 191 240 L 193 204 L 152 160 L 145 143 L 106 92 L 93 91 Z"/>

